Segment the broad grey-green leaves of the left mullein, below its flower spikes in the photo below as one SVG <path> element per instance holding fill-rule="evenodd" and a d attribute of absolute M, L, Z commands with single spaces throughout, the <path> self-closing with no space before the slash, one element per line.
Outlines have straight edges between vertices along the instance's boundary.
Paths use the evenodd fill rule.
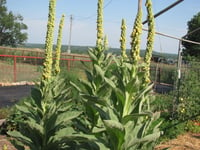
<path fill-rule="evenodd" d="M 31 99 L 17 105 L 21 120 L 18 131 L 9 131 L 12 143 L 19 150 L 28 146 L 31 150 L 66 149 L 77 138 L 72 119 L 81 112 L 72 110 L 70 88 L 66 81 L 55 77 L 45 90 L 34 88 Z M 73 135 L 74 134 L 74 135 Z"/>

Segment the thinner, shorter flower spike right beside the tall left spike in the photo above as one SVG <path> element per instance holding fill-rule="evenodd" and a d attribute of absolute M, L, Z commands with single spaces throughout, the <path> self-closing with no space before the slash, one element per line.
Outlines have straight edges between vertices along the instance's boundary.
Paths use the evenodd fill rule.
<path fill-rule="evenodd" d="M 62 45 L 62 31 L 64 26 L 65 15 L 62 15 L 59 24 L 58 30 L 58 38 L 57 38 L 57 45 L 56 45 L 56 59 L 55 59 L 55 75 L 60 73 L 60 52 L 61 52 L 61 45 Z"/>

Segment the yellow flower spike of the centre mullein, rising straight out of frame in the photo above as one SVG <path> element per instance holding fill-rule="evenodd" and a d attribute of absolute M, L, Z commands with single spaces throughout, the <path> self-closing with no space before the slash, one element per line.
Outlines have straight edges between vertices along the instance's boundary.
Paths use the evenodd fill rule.
<path fill-rule="evenodd" d="M 98 0 L 97 8 L 97 41 L 96 47 L 101 50 L 103 44 L 103 2 L 104 0 Z"/>

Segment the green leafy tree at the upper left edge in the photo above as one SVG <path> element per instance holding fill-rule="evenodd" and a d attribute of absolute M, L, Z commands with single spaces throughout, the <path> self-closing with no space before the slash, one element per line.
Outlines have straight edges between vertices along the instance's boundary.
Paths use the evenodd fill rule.
<path fill-rule="evenodd" d="M 27 25 L 21 15 L 8 11 L 6 0 L 0 0 L 0 45 L 17 46 L 27 40 Z"/>

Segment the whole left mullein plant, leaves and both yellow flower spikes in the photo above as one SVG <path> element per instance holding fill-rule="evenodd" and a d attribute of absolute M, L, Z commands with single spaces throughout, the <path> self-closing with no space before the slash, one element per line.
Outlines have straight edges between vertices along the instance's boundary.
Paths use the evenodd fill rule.
<path fill-rule="evenodd" d="M 55 4 L 56 0 L 49 1 L 46 55 L 41 85 L 32 89 L 28 101 L 16 105 L 16 112 L 21 115 L 21 119 L 17 120 L 19 128 L 8 132 L 12 137 L 11 142 L 18 150 L 25 150 L 25 146 L 31 150 L 81 149 L 82 143 L 84 146 L 89 143 L 89 139 L 80 136 L 74 129 L 73 120 L 82 112 L 76 109 L 74 101 L 71 100 L 71 89 L 67 80 L 59 76 L 58 66 L 55 68 L 56 75 L 52 75 Z M 63 21 L 64 16 L 61 24 Z M 57 55 L 58 53 L 57 51 Z M 59 64 L 59 58 L 57 61 Z M 88 144 L 89 149 L 93 149 L 91 145 Z"/>

